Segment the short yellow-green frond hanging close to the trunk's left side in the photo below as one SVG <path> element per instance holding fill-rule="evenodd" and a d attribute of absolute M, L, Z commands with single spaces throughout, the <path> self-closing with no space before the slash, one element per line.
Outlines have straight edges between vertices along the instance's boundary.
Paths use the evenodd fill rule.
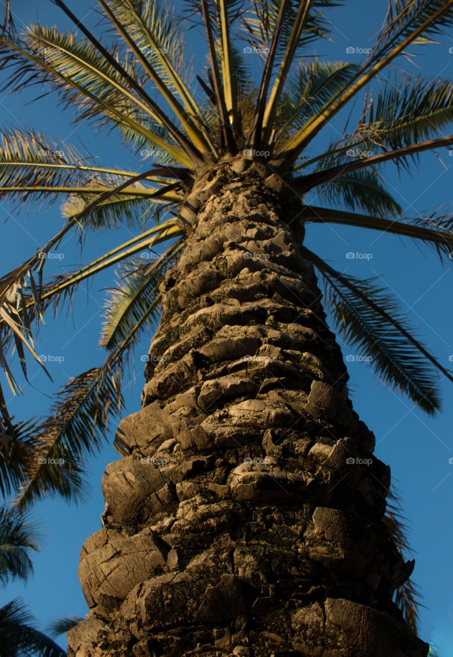
<path fill-rule="evenodd" d="M 116 287 L 108 291 L 105 301 L 105 321 L 101 331 L 99 346 L 114 349 L 130 335 L 137 321 L 149 312 L 150 304 L 155 304 L 160 296 L 159 285 L 164 273 L 169 269 L 183 246 L 178 240 L 163 254 L 153 250 L 143 252 L 143 256 L 156 256 L 156 263 L 150 260 L 126 261 L 117 272 Z M 149 315 L 151 324 L 158 323 L 158 308 Z"/>

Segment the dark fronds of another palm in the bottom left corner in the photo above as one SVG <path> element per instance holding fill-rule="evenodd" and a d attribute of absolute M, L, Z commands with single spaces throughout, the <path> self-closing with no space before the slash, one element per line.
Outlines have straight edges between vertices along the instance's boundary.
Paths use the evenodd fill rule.
<path fill-rule="evenodd" d="M 33 572 L 30 551 L 37 547 L 36 526 L 27 516 L 5 505 L 0 507 L 0 583 L 27 579 Z M 34 627 L 33 616 L 20 599 L 0 608 L 0 652 L 2 657 L 66 657 L 55 641 Z"/>

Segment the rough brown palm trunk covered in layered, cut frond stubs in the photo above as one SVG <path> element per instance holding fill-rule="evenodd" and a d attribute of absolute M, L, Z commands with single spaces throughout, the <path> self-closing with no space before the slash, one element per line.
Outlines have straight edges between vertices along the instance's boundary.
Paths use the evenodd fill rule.
<path fill-rule="evenodd" d="M 77 657 L 425 657 L 391 602 L 413 568 L 382 522 L 389 467 L 277 177 L 195 182 L 141 411 L 82 548 Z"/>

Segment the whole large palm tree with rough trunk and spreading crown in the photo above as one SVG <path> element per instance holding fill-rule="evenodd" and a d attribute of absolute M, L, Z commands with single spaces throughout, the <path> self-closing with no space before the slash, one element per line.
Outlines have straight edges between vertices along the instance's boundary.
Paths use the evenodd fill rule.
<path fill-rule="evenodd" d="M 64 386 L 30 445 L 0 399 L 7 454 L 24 452 L 18 509 L 80 492 L 83 456 L 121 411 L 133 346 L 160 319 L 141 410 L 120 423 L 122 458 L 103 478 L 104 526 L 82 550 L 91 614 L 69 632 L 69 654 L 424 657 L 429 646 L 394 602 L 414 561 L 398 551 L 394 514 L 384 516 L 389 468 L 352 410 L 333 331 L 427 413 L 440 408 L 438 373 L 453 377 L 388 290 L 335 271 L 303 238 L 309 223 L 341 223 L 414 238 L 446 260 L 451 217 L 404 216 L 379 171 L 408 170 L 420 152 L 453 143 L 439 136 L 453 120 L 453 86 L 373 81 L 452 26 L 453 0 L 389 0 L 358 65 L 298 58 L 326 35 L 333 0 L 191 1 L 208 53 L 198 87 L 170 7 L 98 1 L 114 41 L 101 43 L 62 0 L 82 37 L 39 24 L 19 36 L 7 9 L 0 39 L 4 89 L 45 85 L 78 120 L 116 129 L 153 162 L 144 172 L 95 166 L 31 129 L 1 135 L 0 193 L 18 204 L 63 198 L 66 218 L 0 281 L 0 358 L 13 390 L 10 352 L 26 376 L 43 313 L 121 263 L 105 363 Z M 250 50 L 262 55 L 259 74 L 245 66 Z M 317 150 L 315 137 L 360 93 L 357 125 Z M 312 191 L 322 205 L 310 204 Z M 43 281 L 69 231 L 121 222 L 141 233 Z M 152 264 L 136 257 L 158 244 Z"/>

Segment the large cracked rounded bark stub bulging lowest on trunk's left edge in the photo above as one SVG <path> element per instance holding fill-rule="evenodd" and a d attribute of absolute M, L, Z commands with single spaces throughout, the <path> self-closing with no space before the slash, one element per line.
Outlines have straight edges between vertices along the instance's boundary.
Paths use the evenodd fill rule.
<path fill-rule="evenodd" d="M 117 539 L 85 556 L 79 579 L 89 607 L 124 600 L 133 587 L 166 565 L 162 541 L 147 528 Z"/>

